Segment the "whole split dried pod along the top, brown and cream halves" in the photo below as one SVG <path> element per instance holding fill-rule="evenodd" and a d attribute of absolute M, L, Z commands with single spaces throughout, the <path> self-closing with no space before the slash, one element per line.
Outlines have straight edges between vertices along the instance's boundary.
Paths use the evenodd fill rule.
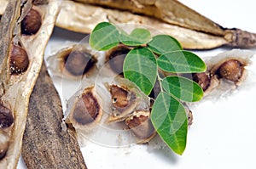
<path fill-rule="evenodd" d="M 83 0 L 80 1 L 84 2 Z M 147 26 L 148 29 L 151 27 L 153 30 L 158 30 L 163 32 L 163 34 L 175 37 L 181 42 L 183 48 L 188 49 L 209 49 L 223 45 L 241 48 L 255 46 L 255 34 L 253 33 L 239 29 L 223 28 L 176 0 L 167 1 L 167 5 L 161 1 L 164 0 L 154 1 L 153 3 L 152 1 L 143 1 L 142 3 L 140 1 L 125 1 L 125 3 L 133 4 L 130 10 L 133 11 L 135 10 L 133 8 L 137 8 L 136 12 L 146 14 L 141 15 L 132 14 L 124 10 L 102 8 L 96 5 L 86 4 L 93 2 L 103 4 L 102 6 L 108 5 L 119 9 L 129 7 L 124 5 L 123 1 L 95 2 L 86 0 L 86 3 L 81 4 L 67 0 L 61 3 L 61 13 L 58 15 L 56 25 L 70 31 L 90 33 L 102 21 L 109 21 L 113 24 L 136 24 L 143 27 Z M 154 5 L 151 6 L 151 3 Z M 144 7 L 147 7 L 146 10 L 143 10 Z M 151 9 L 157 12 L 154 10 L 151 12 Z M 164 11 L 163 13 L 160 12 L 162 10 Z M 166 12 L 168 14 L 165 14 Z M 156 18 L 147 16 L 147 14 L 153 14 Z M 159 20 L 159 18 L 162 20 Z"/>

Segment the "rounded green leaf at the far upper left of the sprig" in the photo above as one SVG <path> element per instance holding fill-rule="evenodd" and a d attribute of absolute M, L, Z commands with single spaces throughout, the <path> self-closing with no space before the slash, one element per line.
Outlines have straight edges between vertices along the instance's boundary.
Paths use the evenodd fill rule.
<path fill-rule="evenodd" d="M 96 25 L 90 34 L 90 47 L 96 50 L 108 50 L 119 44 L 119 31 L 108 22 Z"/>

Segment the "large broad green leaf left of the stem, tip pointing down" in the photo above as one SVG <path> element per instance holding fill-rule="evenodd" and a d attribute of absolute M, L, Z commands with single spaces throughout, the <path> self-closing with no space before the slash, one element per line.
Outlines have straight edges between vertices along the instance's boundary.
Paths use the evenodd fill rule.
<path fill-rule="evenodd" d="M 154 87 L 157 65 L 154 54 L 148 48 L 134 48 L 125 57 L 124 76 L 147 95 Z"/>

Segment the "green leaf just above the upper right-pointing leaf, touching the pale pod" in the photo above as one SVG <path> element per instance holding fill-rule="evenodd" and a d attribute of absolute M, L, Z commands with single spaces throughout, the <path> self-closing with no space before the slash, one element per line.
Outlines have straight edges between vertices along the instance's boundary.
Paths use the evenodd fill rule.
<path fill-rule="evenodd" d="M 150 48 L 156 54 L 166 54 L 176 50 L 182 50 L 182 46 L 177 40 L 168 35 L 157 35 L 148 42 Z"/>

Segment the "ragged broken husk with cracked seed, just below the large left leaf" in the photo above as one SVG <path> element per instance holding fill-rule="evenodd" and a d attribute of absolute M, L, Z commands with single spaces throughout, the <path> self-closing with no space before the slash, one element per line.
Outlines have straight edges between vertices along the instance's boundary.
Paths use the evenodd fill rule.
<path fill-rule="evenodd" d="M 116 82 L 109 85 L 113 115 L 108 122 L 125 121 L 135 110 L 149 110 L 150 102 L 141 90 L 125 78 L 116 78 Z"/>

